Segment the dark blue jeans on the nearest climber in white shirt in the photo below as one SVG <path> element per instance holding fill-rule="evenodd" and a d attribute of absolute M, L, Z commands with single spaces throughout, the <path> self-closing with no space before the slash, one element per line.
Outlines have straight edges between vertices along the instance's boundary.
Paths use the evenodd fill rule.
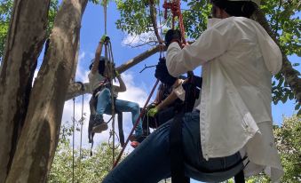
<path fill-rule="evenodd" d="M 200 115 L 197 111 L 187 113 L 183 117 L 186 176 L 208 182 L 224 181 L 234 177 L 243 167 L 241 155 L 236 153 L 206 161 L 202 157 L 199 122 Z M 156 183 L 169 178 L 170 123 L 172 119 L 151 133 L 123 162 L 108 173 L 103 183 Z M 230 167 L 230 170 L 224 171 Z"/>

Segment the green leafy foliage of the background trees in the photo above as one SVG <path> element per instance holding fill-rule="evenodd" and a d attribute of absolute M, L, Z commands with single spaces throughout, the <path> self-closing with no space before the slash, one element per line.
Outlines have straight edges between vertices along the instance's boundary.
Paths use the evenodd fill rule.
<path fill-rule="evenodd" d="M 148 2 L 147 0 L 115 0 L 120 13 L 118 20 L 115 21 L 116 28 L 136 36 L 153 31 Z M 100 2 L 91 0 L 91 3 L 99 4 Z M 156 4 L 158 24 L 161 22 L 159 27 L 162 27 L 163 31 L 170 28 L 170 18 L 164 20 L 163 9 L 158 8 L 162 7 L 162 2 L 155 0 L 154 4 Z M 189 40 L 196 39 L 206 28 L 210 8 L 210 4 L 205 0 L 182 1 L 186 36 Z M 53 20 L 58 9 L 59 0 L 51 0 L 48 36 L 51 33 Z M 262 1 L 261 9 L 265 12 L 273 32 L 281 43 L 281 49 L 288 56 L 300 58 L 301 2 L 298 0 L 265 0 Z M 0 60 L 4 56 L 5 37 L 9 28 L 11 13 L 12 0 L 2 0 L 0 2 Z M 159 19 L 159 15 L 161 19 Z M 292 64 L 297 68 L 299 62 Z M 273 102 L 274 104 L 279 101 L 285 103 L 288 99 L 294 99 L 294 95 L 280 73 L 273 80 Z M 300 103 L 296 102 L 296 109 L 300 110 Z M 284 119 L 281 126 L 274 128 L 277 147 L 281 152 L 281 161 L 285 170 L 285 175 L 281 179 L 282 182 L 300 182 L 300 128 L 300 117 L 297 115 Z M 69 140 L 71 131 L 72 128 L 62 126 L 62 136 L 49 175 L 50 182 L 70 182 L 72 179 L 72 148 Z M 82 182 L 99 182 L 110 170 L 111 150 L 107 144 L 102 144 L 95 148 L 92 157 L 90 157 L 89 152 L 90 149 L 83 149 L 81 165 L 79 165 L 79 151 L 75 150 L 75 179 Z M 265 176 L 258 176 L 249 179 L 248 182 L 269 182 L 269 180 Z"/>

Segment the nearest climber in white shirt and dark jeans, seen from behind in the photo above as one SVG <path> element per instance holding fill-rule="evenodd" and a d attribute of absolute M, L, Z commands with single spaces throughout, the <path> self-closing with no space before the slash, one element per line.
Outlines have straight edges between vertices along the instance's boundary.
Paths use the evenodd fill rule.
<path fill-rule="evenodd" d="M 283 174 L 271 114 L 272 76 L 282 58 L 265 29 L 250 20 L 259 2 L 212 0 L 208 28 L 183 49 L 177 31 L 165 36 L 171 76 L 202 65 L 201 104 L 181 124 L 184 171 L 190 178 L 218 182 L 242 170 L 246 177 L 265 171 L 274 182 Z M 103 182 L 170 177 L 171 123 L 150 134 Z"/>

